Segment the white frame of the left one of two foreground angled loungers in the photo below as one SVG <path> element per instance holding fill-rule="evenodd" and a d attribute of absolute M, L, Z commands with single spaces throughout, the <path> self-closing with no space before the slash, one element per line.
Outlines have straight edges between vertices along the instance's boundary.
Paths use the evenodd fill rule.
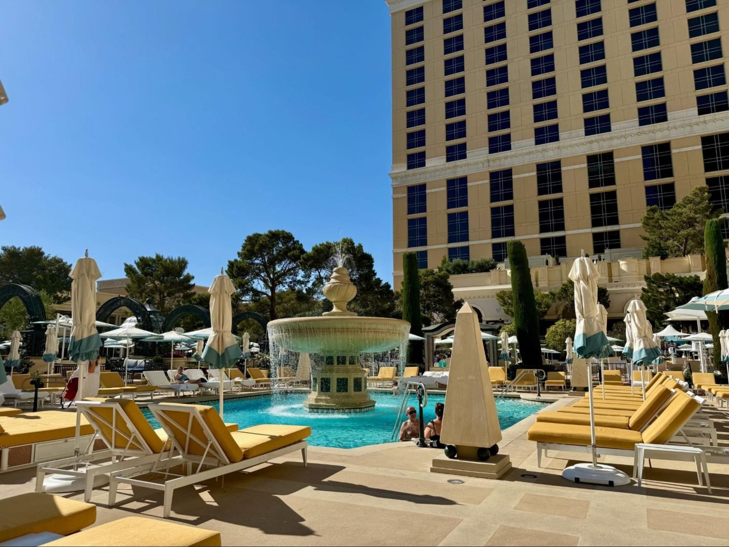
<path fill-rule="evenodd" d="M 96 410 L 102 408 L 112 409 L 111 422 L 95 413 Z M 94 480 L 98 475 L 108 475 L 114 471 L 134 468 L 147 463 L 153 464 L 153 468 L 158 464 L 168 466 L 181 463 L 179 457 L 173 457 L 174 445 L 172 444 L 170 444 L 167 452 L 163 450 L 159 454 L 156 454 L 152 451 L 149 444 L 144 441 L 144 437 L 141 436 L 141 433 L 139 433 L 139 430 L 129 419 L 120 404 L 116 402 L 78 401 L 77 409 L 82 412 L 95 430 L 95 434 L 87 446 L 86 453 L 39 464 L 38 470 L 36 471 L 36 492 L 43 492 L 43 479 L 49 473 L 83 476 L 86 479 L 84 501 L 88 502 L 91 499 Z M 104 425 L 109 427 L 112 438 L 107 439 L 104 436 L 104 432 L 98 428 L 97 420 L 104 422 Z M 125 423 L 130 434 L 123 433 L 119 429 L 119 425 L 122 422 Z M 107 449 L 99 452 L 91 452 L 95 438 L 101 438 L 106 444 Z M 116 442 L 114 441 L 117 438 L 122 438 L 122 441 L 126 441 L 124 448 L 115 447 Z M 109 445 L 109 442 L 111 442 L 111 445 Z M 139 448 L 133 448 L 131 444 L 136 444 Z M 109 458 L 111 458 L 111 462 L 108 461 Z M 170 462 L 167 462 L 167 460 L 170 460 Z"/>

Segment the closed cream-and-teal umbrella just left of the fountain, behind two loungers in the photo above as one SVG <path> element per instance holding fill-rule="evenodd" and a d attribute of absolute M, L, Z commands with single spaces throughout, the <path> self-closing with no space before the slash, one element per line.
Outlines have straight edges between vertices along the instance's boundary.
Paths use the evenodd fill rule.
<path fill-rule="evenodd" d="M 213 335 L 203 350 L 203 360 L 213 369 L 227 369 L 238 361 L 243 355 L 241 347 L 235 342 L 235 337 L 230 329 L 233 328 L 233 310 L 230 304 L 230 296 L 235 292 L 235 287 L 230 278 L 220 269 L 220 275 L 216 275 L 213 284 L 208 288 L 210 293 L 210 318 Z M 222 383 L 219 387 L 220 393 L 220 417 L 223 417 L 223 389 Z"/>

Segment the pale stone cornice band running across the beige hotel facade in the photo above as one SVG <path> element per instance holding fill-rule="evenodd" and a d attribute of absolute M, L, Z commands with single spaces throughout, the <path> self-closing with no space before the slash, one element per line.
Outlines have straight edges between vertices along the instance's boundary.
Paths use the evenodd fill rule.
<path fill-rule="evenodd" d="M 675 115 L 675 114 L 674 114 Z M 390 173 L 392 186 L 406 186 L 440 178 L 453 178 L 484 171 L 499 170 L 529 163 L 537 163 L 547 159 L 595 154 L 600 151 L 640 146 L 675 138 L 720 133 L 729 130 L 729 114 L 711 114 L 706 116 L 685 117 L 656 125 L 630 127 L 622 130 L 602 133 L 601 135 L 569 135 L 572 138 L 556 143 L 534 146 L 534 141 L 526 140 L 514 143 L 514 148 L 499 154 L 488 154 L 488 149 L 469 150 L 466 160 L 446 163 L 445 158 L 437 165 L 424 168 L 399 170 Z M 575 132 L 576 133 L 576 132 Z M 564 137 L 566 135 L 561 135 Z"/>

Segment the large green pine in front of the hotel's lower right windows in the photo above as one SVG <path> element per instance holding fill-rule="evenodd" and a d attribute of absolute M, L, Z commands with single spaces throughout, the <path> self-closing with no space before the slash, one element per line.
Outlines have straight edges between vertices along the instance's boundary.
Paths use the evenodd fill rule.
<path fill-rule="evenodd" d="M 660 210 L 651 205 L 641 220 L 645 235 L 643 258 L 687 256 L 703 253 L 703 227 L 708 219 L 722 213 L 709 202 L 706 186 L 697 186 L 672 208 Z"/>

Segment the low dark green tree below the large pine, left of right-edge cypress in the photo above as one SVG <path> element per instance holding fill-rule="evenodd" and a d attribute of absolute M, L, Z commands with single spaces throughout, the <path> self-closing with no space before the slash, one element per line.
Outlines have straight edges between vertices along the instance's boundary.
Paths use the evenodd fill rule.
<path fill-rule="evenodd" d="M 642 289 L 640 299 L 645 304 L 646 315 L 655 330 L 666 324 L 667 318 L 664 313 L 685 304 L 694 296 L 701 296 L 703 292 L 703 283 L 698 275 L 655 273 L 646 275 L 644 280 L 645 287 Z"/>

